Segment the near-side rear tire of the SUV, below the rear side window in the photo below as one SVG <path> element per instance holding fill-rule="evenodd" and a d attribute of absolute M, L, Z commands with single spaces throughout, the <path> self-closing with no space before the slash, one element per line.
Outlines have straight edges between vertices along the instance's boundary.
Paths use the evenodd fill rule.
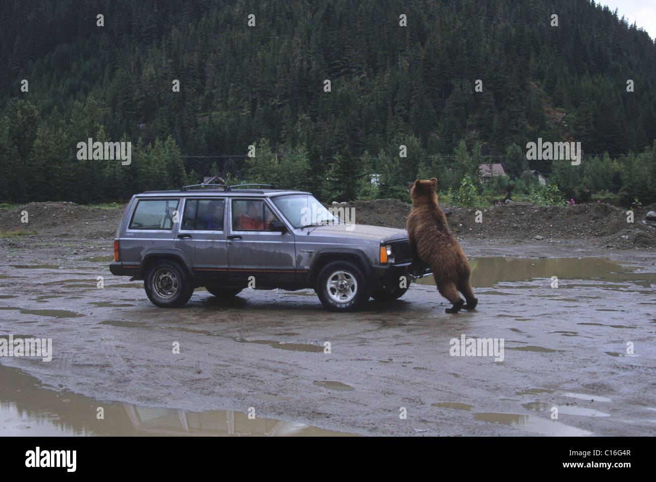
<path fill-rule="evenodd" d="M 194 285 L 186 270 L 170 259 L 154 261 L 148 267 L 144 289 L 153 305 L 160 308 L 183 306 L 194 293 Z"/>

